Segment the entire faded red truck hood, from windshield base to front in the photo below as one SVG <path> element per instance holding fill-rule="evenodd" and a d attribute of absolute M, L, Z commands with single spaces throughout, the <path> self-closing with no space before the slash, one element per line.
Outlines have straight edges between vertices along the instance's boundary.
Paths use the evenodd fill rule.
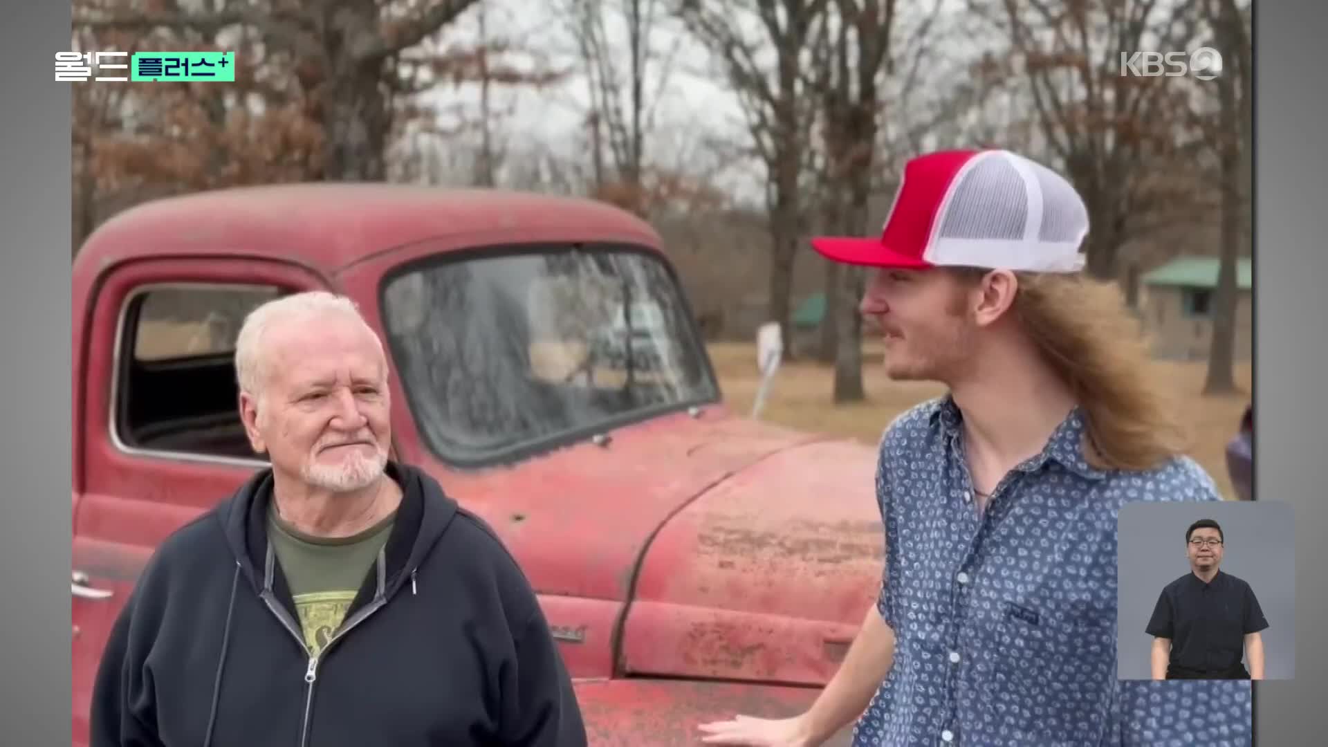
<path fill-rule="evenodd" d="M 494 528 L 555 627 L 560 598 L 614 602 L 615 617 L 627 603 L 619 671 L 819 683 L 880 584 L 875 461 L 869 445 L 716 408 L 440 479 Z"/>

